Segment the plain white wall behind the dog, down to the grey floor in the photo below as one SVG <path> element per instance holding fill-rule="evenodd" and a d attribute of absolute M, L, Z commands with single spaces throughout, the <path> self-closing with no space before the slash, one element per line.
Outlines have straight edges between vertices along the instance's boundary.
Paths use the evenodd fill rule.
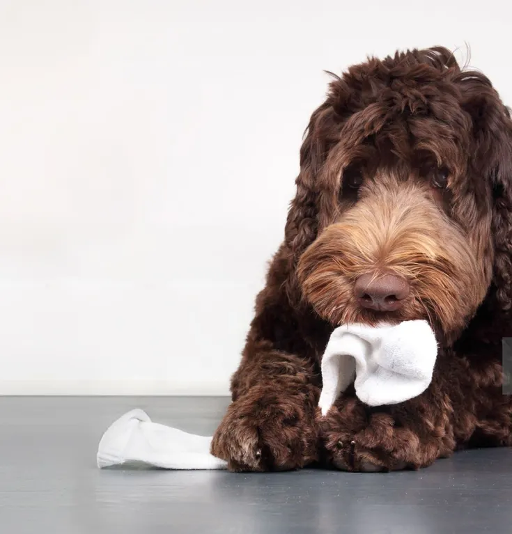
<path fill-rule="evenodd" d="M 0 0 L 0 393 L 226 394 L 328 81 L 495 1 Z"/>

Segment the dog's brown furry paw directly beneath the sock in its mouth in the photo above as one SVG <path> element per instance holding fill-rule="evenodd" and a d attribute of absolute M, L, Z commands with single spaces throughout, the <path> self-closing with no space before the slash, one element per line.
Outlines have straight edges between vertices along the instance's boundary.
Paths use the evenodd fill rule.
<path fill-rule="evenodd" d="M 402 425 L 392 410 L 382 410 L 369 411 L 357 399 L 329 410 L 320 419 L 327 464 L 343 471 L 375 473 L 419 469 L 449 455 L 428 422 Z"/>

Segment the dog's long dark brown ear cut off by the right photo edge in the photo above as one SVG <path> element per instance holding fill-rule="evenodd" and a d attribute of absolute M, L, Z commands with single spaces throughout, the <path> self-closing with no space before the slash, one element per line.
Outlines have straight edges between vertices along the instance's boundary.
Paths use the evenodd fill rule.
<path fill-rule="evenodd" d="M 491 308 L 501 315 L 509 315 L 512 309 L 512 120 L 509 109 L 486 77 L 479 72 L 463 72 L 460 76 L 463 107 L 470 113 L 473 124 L 474 171 L 486 181 L 492 194 L 495 259 L 488 298 L 493 300 Z"/>

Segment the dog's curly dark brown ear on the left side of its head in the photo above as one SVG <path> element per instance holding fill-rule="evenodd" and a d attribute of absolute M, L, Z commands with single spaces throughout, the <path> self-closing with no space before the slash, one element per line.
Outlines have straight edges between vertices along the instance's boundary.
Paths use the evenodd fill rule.
<path fill-rule="evenodd" d="M 295 180 L 297 192 L 290 204 L 285 226 L 285 242 L 295 260 L 318 233 L 318 175 L 332 146 L 334 111 L 325 102 L 313 112 L 300 149 L 300 173 Z"/>

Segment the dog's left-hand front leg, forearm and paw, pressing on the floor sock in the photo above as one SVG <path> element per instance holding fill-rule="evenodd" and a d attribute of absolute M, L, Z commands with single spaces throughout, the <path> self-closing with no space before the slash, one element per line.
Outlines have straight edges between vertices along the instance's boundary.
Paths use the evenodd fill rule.
<path fill-rule="evenodd" d="M 317 459 L 319 388 L 307 361 L 249 342 L 232 389 L 211 448 L 228 469 L 280 471 Z"/>

